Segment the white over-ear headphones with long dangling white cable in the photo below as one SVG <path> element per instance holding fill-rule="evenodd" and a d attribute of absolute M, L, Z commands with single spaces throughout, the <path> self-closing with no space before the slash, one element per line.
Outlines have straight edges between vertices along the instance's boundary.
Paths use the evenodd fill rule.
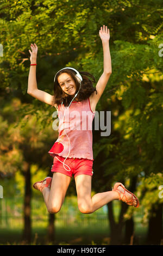
<path fill-rule="evenodd" d="M 77 74 L 76 74 L 76 77 L 77 77 L 77 80 L 78 80 L 78 82 L 80 83 L 80 87 L 81 87 L 81 83 L 82 83 L 82 81 L 83 81 L 83 78 L 82 78 L 82 76 L 79 74 L 78 70 L 73 69 L 73 68 L 70 68 L 70 67 L 67 67 L 67 68 L 64 68 L 64 69 L 72 69 L 72 70 L 76 71 L 76 73 L 77 73 Z M 63 70 L 63 69 L 61 69 L 61 70 Z M 59 70 L 59 71 L 61 71 L 61 70 Z M 58 72 L 59 72 L 59 71 L 58 71 Z M 57 74 L 58 74 L 58 72 L 57 72 Z M 57 75 L 57 74 L 56 74 L 56 75 Z M 55 77 L 56 77 L 56 75 L 55 75 Z M 55 82 L 55 77 L 54 77 L 54 82 Z M 79 88 L 79 90 L 80 90 L 80 88 Z M 74 95 L 73 99 L 78 95 L 79 90 L 78 90 L 78 92 L 76 93 L 76 95 Z M 73 101 L 73 99 L 72 99 L 72 101 Z M 72 101 L 71 101 L 71 102 L 72 102 Z M 69 104 L 68 107 L 70 107 L 71 102 L 70 102 L 70 104 Z M 62 103 L 63 103 L 63 102 L 62 102 Z M 62 103 L 61 103 L 61 106 L 62 106 Z M 68 107 L 65 108 L 65 111 L 66 111 L 66 109 L 68 109 Z M 63 107 L 62 107 L 62 108 L 63 108 Z M 65 117 L 65 111 L 64 111 L 64 117 Z M 62 125 L 64 124 L 64 117 L 63 117 L 63 120 L 62 120 Z M 64 132 L 65 132 L 65 129 L 64 129 Z M 66 136 L 67 136 L 67 138 L 68 138 L 68 135 L 67 135 L 66 132 L 65 132 L 65 134 L 66 134 Z M 68 140 L 69 140 L 69 145 L 70 145 L 70 139 L 68 138 Z M 69 147 L 68 155 L 69 155 L 69 154 L 70 154 L 70 147 Z M 67 157 L 68 157 L 68 155 L 67 155 Z M 57 156 L 55 156 L 55 157 L 58 159 Z M 64 165 L 67 166 L 67 164 L 65 163 L 67 157 L 65 158 L 64 162 L 61 162 L 59 159 L 58 159 L 58 161 L 60 161 L 61 163 L 63 163 L 63 166 L 64 166 Z M 64 166 L 64 168 L 65 168 L 65 166 Z M 70 168 L 70 167 L 68 166 L 68 168 Z M 67 170 L 67 169 L 65 168 L 65 170 Z M 70 168 L 70 170 L 71 170 L 71 168 Z M 67 170 L 67 171 L 70 172 L 70 170 Z"/>

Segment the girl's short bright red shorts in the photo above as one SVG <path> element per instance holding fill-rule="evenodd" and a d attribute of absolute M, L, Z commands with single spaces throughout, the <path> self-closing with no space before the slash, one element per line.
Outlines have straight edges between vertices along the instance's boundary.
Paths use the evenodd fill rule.
<path fill-rule="evenodd" d="M 77 159 L 77 158 L 73 159 L 73 158 L 67 157 L 65 164 L 63 164 L 65 158 L 66 157 L 55 156 L 53 159 L 53 165 L 52 165 L 51 172 L 63 173 L 70 177 L 72 177 L 72 174 L 74 174 L 74 178 L 80 174 L 86 174 L 86 175 L 90 175 L 90 176 L 93 175 L 93 169 L 92 169 L 93 160 Z M 70 168 L 68 168 L 68 167 L 70 167 Z"/>

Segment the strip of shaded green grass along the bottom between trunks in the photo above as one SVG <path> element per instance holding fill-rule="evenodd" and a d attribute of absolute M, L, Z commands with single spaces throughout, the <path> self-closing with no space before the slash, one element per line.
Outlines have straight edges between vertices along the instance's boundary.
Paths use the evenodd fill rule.
<path fill-rule="evenodd" d="M 145 244 L 146 228 L 135 229 L 135 241 Z M 26 245 L 22 240 L 22 229 L 1 229 L 1 245 Z M 47 229 L 33 228 L 31 245 L 109 245 L 110 230 L 108 227 L 57 227 L 55 242 L 47 242 Z"/>

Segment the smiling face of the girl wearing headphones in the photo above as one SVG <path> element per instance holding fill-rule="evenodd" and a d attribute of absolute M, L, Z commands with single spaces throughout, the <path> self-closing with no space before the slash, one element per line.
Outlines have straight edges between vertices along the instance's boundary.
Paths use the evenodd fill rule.
<path fill-rule="evenodd" d="M 76 93 L 76 83 L 72 77 L 67 73 L 62 73 L 58 76 L 58 83 L 61 89 L 69 94 L 74 95 Z"/>

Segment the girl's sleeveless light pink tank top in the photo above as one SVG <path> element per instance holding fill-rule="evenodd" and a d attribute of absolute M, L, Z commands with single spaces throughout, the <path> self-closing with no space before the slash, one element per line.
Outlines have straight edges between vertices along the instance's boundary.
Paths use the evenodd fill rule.
<path fill-rule="evenodd" d="M 70 107 L 65 107 L 64 104 L 61 106 L 60 104 L 58 106 L 58 117 L 59 136 L 55 142 L 62 143 L 64 149 L 61 153 L 55 154 L 52 147 L 48 153 L 53 157 L 62 156 L 94 160 L 92 150 L 92 121 L 95 117 L 95 112 L 91 110 L 89 98 L 79 102 L 72 101 Z M 63 117 L 64 124 L 62 125 Z M 69 151 L 70 154 L 68 154 Z"/>

